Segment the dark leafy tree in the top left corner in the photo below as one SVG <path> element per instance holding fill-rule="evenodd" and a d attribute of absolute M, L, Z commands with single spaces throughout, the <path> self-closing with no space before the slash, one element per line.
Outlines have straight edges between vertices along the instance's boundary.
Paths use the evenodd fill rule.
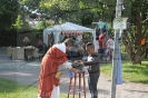
<path fill-rule="evenodd" d="M 18 0 L 0 1 L 0 29 L 9 29 L 18 17 Z"/>

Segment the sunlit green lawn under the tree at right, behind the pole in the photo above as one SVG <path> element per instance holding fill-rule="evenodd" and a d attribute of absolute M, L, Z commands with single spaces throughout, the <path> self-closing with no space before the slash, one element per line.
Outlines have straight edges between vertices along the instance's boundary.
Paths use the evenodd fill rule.
<path fill-rule="evenodd" d="M 103 65 L 101 74 L 111 77 L 112 65 Z M 131 81 L 148 85 L 148 61 L 142 61 L 142 65 L 132 65 L 130 61 L 122 61 L 122 78 L 124 81 Z"/>

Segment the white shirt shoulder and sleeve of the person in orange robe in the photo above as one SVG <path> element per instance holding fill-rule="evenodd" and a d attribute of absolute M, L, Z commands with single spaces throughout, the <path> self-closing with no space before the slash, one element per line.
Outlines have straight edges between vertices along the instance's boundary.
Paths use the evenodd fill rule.
<path fill-rule="evenodd" d="M 66 53 L 66 45 L 65 43 L 58 43 L 58 45 L 53 45 L 53 47 L 57 47 L 59 50 L 63 51 Z M 61 69 L 71 69 L 72 63 L 69 61 L 63 62 L 61 66 L 59 66 L 59 70 Z"/>

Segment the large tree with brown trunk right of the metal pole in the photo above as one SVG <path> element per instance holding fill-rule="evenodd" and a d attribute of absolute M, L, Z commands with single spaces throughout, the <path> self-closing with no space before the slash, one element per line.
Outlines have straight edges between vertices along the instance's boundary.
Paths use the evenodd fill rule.
<path fill-rule="evenodd" d="M 130 28 L 124 33 L 124 43 L 132 63 L 141 63 L 141 57 L 148 47 L 148 1 L 132 0 L 129 6 Z M 144 38 L 145 45 L 141 45 Z"/>

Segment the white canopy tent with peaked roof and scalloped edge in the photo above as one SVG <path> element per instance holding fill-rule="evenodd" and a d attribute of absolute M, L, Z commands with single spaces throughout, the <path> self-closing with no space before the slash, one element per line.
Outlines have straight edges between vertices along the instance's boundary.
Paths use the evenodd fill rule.
<path fill-rule="evenodd" d="M 43 42 L 47 46 L 48 46 L 48 40 L 49 40 L 48 36 L 51 32 L 53 33 L 53 37 L 55 37 L 55 43 L 59 42 L 59 40 L 60 40 L 59 37 L 60 37 L 61 32 L 65 33 L 65 35 L 67 35 L 67 33 L 81 35 L 81 33 L 85 33 L 85 32 L 91 32 L 92 37 L 93 37 L 93 43 L 96 45 L 96 31 L 93 29 L 86 28 L 86 27 L 82 27 L 82 26 L 79 26 L 79 24 L 76 24 L 76 23 L 66 22 L 63 24 L 55 26 L 52 28 L 43 30 Z M 97 48 L 96 48 L 96 50 L 97 50 Z"/>

